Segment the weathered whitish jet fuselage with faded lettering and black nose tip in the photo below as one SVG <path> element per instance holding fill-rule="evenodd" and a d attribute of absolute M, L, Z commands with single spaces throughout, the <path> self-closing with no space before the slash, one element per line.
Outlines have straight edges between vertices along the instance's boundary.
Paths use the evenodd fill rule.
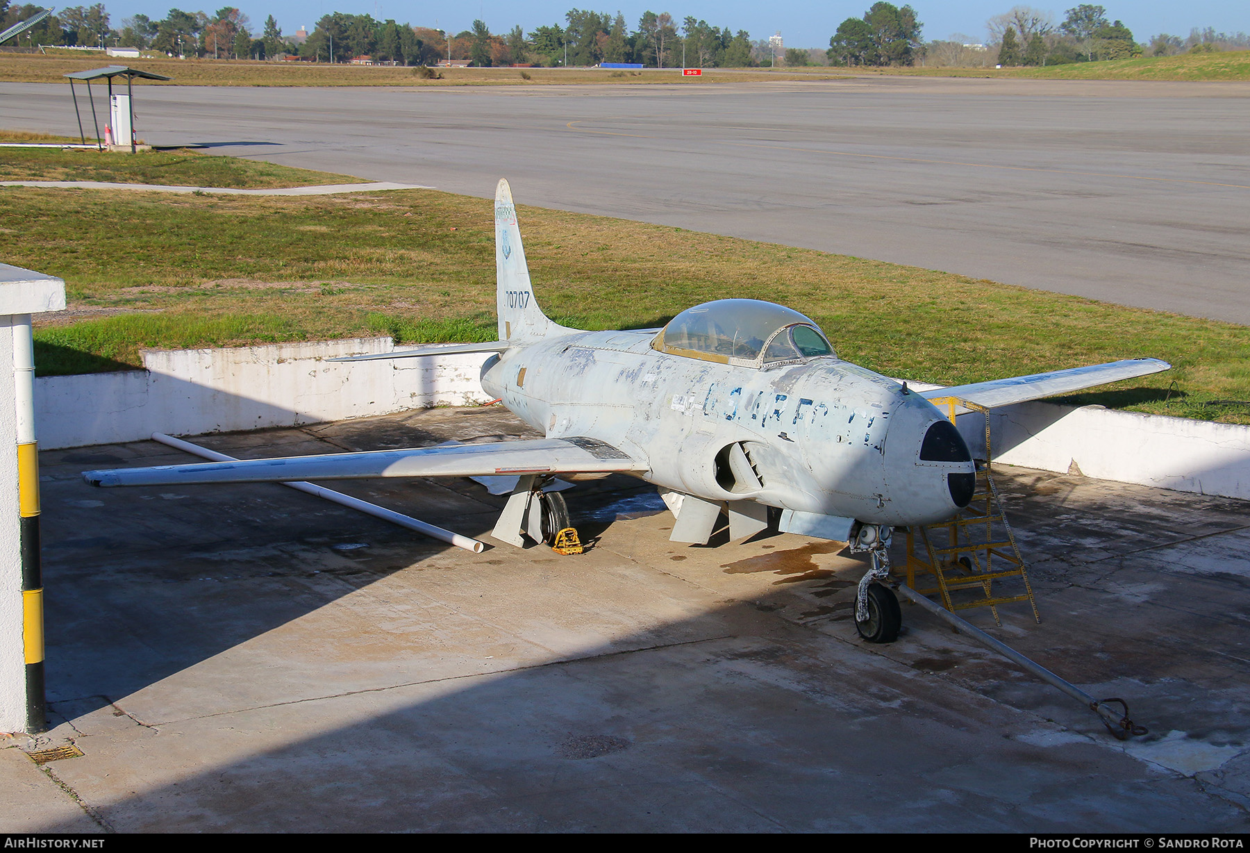
<path fill-rule="evenodd" d="M 892 379 L 834 356 L 720 364 L 656 351 L 652 338 L 548 338 L 490 359 L 482 388 L 549 438 L 599 439 L 648 460 L 648 482 L 705 500 L 892 525 L 968 503 L 962 440 L 961 459 L 921 459 L 929 430 L 949 421 Z"/>

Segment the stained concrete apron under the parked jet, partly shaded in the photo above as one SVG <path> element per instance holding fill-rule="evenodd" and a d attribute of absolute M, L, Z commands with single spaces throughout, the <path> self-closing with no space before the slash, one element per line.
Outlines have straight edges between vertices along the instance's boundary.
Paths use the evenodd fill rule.
<path fill-rule="evenodd" d="M 521 437 L 499 406 L 205 439 L 239 457 Z M 668 542 L 650 488 L 566 492 L 595 547 L 474 557 L 276 485 L 96 490 L 151 442 L 45 452 L 48 682 L 6 829 L 1191 830 L 1248 828 L 1245 504 L 1015 470 L 1045 619 L 965 612 L 1089 712 L 906 607 L 862 644 L 859 560 L 772 535 Z M 484 535 L 468 480 L 362 498 Z M 901 553 L 895 559 L 901 560 Z M 74 798 L 81 805 L 76 805 Z M 8 799 L 8 798 L 6 798 Z"/>

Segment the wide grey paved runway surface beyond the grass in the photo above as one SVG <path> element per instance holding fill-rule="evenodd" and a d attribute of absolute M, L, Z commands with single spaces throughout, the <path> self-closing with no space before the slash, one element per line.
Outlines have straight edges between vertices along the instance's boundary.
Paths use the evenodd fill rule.
<path fill-rule="evenodd" d="M 136 88 L 149 143 L 1250 324 L 1248 84 Z M 0 84 L 75 133 L 69 86 Z M 102 110 L 102 108 L 101 108 Z M 102 113 L 101 113 L 102 115 Z"/>

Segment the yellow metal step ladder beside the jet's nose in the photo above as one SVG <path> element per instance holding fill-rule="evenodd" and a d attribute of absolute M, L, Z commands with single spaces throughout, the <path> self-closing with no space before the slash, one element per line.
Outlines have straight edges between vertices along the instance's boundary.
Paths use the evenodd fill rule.
<path fill-rule="evenodd" d="M 932 403 L 948 409 L 951 423 L 956 408 L 985 415 L 985 463 L 976 465 L 971 503 L 955 518 L 942 524 L 908 528 L 906 584 L 921 595 L 940 594 L 942 607 L 951 612 L 989 607 L 1000 627 L 999 604 L 1029 602 L 1032 618 L 1041 623 L 1020 547 L 990 477 L 990 410 L 955 396 L 940 396 Z M 938 585 L 921 589 L 916 585 L 918 573 L 931 574 Z M 1002 589 L 1012 578 L 1022 582 L 1024 593 L 1010 594 Z"/>

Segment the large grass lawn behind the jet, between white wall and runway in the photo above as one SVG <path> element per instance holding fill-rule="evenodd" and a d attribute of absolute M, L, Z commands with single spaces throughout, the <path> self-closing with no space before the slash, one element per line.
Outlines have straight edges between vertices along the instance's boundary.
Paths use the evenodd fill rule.
<path fill-rule="evenodd" d="M 390 334 L 495 336 L 491 203 L 434 190 L 250 198 L 0 189 L 5 261 L 65 279 L 36 320 L 42 375 L 141 348 Z M 669 226 L 521 209 L 536 295 L 589 329 L 654 326 L 722 296 L 784 303 L 839 354 L 942 384 L 1120 358 L 1171 371 L 1081 401 L 1250 423 L 1250 330 L 948 273 Z M 652 286 L 649 283 L 661 283 Z"/>

